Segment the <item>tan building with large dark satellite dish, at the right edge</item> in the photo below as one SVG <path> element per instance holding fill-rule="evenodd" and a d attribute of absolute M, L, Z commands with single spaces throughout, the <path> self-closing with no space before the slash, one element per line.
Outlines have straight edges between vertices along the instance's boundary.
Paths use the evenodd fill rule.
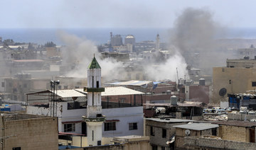
<path fill-rule="evenodd" d="M 256 90 L 255 75 L 255 59 L 228 59 L 227 67 L 214 67 L 213 98 L 210 103 L 228 103 L 228 93 Z"/>

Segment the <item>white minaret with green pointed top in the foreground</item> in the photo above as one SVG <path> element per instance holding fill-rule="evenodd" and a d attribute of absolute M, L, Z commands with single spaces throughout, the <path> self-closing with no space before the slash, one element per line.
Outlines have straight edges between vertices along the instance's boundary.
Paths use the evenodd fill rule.
<path fill-rule="evenodd" d="M 105 116 L 102 115 L 101 92 L 105 88 L 101 86 L 101 68 L 93 57 L 87 69 L 87 116 L 83 116 L 87 125 L 87 143 L 89 146 L 102 144 L 102 123 Z"/>

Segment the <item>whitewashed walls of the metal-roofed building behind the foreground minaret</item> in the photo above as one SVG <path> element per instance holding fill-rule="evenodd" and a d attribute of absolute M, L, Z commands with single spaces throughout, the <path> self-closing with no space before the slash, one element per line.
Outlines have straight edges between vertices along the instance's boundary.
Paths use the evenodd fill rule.
<path fill-rule="evenodd" d="M 27 106 L 26 113 L 33 115 L 50 115 L 50 108 Z M 104 123 L 102 125 L 103 137 L 119 137 L 125 135 L 143 135 L 143 107 L 129 108 L 109 108 L 102 109 L 102 115 L 106 116 L 106 120 L 119 120 L 116 122 L 116 130 L 104 131 Z M 64 124 L 62 122 L 75 123 L 75 132 L 82 133 L 82 116 L 86 116 L 86 109 L 68 110 L 68 103 L 58 103 L 58 127 L 59 132 L 64 132 Z M 129 123 L 137 122 L 137 129 L 129 130 Z"/>

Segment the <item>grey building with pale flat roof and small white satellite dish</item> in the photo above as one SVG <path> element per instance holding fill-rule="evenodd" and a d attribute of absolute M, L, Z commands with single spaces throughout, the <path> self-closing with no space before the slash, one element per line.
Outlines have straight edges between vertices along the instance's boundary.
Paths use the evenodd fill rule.
<path fill-rule="evenodd" d="M 184 145 L 185 137 L 217 136 L 219 126 L 210 123 L 191 123 L 174 127 L 176 127 L 176 149 L 189 149 L 189 146 Z"/>

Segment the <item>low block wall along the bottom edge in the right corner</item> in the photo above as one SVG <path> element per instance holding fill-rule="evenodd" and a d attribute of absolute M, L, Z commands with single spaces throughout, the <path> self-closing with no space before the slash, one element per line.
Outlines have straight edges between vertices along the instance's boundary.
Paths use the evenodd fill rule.
<path fill-rule="evenodd" d="M 209 137 L 185 137 L 184 145 L 186 145 L 186 149 L 256 149 L 255 143 L 234 142 L 223 139 L 213 139 Z"/>

